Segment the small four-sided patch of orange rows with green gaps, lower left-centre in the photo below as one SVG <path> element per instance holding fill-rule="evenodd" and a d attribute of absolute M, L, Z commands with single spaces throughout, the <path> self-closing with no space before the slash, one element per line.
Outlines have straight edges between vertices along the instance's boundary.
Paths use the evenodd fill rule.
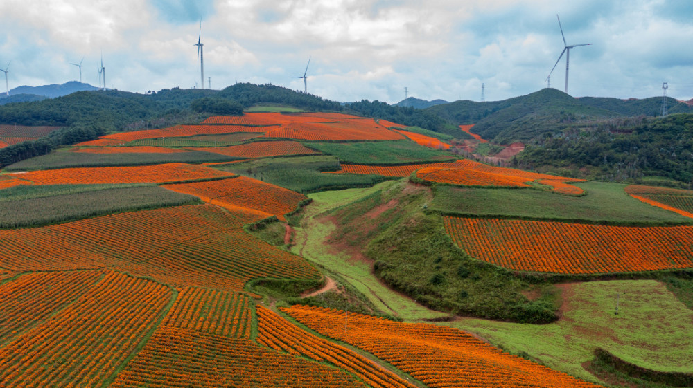
<path fill-rule="evenodd" d="M 243 294 L 184 287 L 161 324 L 215 335 L 250 338 L 252 310 L 249 303 L 249 297 Z"/>

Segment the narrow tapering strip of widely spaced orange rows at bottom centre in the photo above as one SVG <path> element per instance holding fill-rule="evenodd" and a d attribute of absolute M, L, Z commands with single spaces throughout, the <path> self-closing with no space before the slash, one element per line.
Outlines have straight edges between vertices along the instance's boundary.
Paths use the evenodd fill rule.
<path fill-rule="evenodd" d="M 355 374 L 373 388 L 416 387 L 351 349 L 299 329 L 267 308 L 258 306 L 257 314 L 257 341 L 266 347 L 330 362 Z"/>

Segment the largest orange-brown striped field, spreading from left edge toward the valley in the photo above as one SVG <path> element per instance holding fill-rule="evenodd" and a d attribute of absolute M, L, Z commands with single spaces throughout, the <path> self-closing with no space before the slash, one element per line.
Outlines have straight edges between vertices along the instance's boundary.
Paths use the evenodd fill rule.
<path fill-rule="evenodd" d="M 308 261 L 250 236 L 243 214 L 186 205 L 0 230 L 0 267 L 115 268 L 173 286 L 243 290 L 249 279 L 315 279 Z"/>

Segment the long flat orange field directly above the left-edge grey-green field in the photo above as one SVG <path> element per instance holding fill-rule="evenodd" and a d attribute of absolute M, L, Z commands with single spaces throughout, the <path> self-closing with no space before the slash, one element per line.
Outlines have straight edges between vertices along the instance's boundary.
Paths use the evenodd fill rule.
<path fill-rule="evenodd" d="M 8 174 L 37 185 L 91 185 L 98 183 L 166 183 L 234 176 L 200 165 L 167 163 L 134 167 L 49 169 Z"/>

